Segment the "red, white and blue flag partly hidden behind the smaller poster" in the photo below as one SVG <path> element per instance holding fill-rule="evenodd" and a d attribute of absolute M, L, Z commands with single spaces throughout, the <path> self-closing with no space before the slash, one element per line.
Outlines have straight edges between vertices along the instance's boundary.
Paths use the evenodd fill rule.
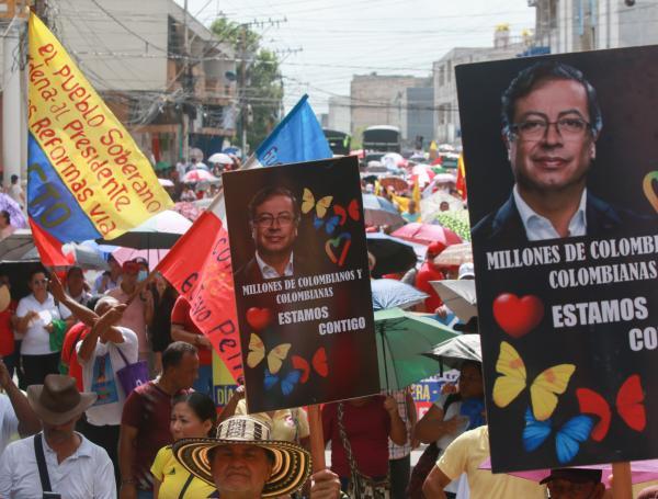
<path fill-rule="evenodd" d="M 308 95 L 304 95 L 257 149 L 256 158 L 248 162 L 251 167 L 260 165 L 260 161 L 275 163 L 273 158 L 281 159 L 281 155 L 291 161 L 329 158 L 331 149 L 327 140 L 325 147 L 319 140 L 324 137 Z M 313 144 L 313 147 L 306 143 Z M 268 147 L 264 147 L 265 144 Z M 158 263 L 157 270 L 190 302 L 192 320 L 237 381 L 242 375 L 242 362 L 225 219 L 224 192 L 220 192 Z M 190 258 L 191 254 L 195 258 Z"/>

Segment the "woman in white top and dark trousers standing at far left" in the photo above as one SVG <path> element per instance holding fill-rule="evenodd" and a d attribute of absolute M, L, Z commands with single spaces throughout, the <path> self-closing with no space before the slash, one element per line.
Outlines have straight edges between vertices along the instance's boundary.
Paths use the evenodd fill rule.
<path fill-rule="evenodd" d="M 43 270 L 30 273 L 27 286 L 32 294 L 19 302 L 16 329 L 24 333 L 21 343 L 25 385 L 43 383 L 47 374 L 59 372 L 59 351 L 50 350 L 50 334 L 55 320 L 71 316 L 68 308 L 55 303 L 48 293 L 48 279 Z"/>

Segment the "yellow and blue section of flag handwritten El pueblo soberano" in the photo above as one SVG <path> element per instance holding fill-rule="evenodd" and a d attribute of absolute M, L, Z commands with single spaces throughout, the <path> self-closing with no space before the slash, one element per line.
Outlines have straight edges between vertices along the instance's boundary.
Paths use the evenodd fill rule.
<path fill-rule="evenodd" d="M 60 242 L 114 239 L 172 206 L 129 133 L 34 14 L 29 48 L 31 223 Z"/>

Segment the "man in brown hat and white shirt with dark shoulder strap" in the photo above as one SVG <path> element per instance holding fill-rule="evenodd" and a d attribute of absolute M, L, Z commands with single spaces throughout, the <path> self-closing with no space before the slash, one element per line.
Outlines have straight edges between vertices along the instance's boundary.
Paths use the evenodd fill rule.
<path fill-rule="evenodd" d="M 27 387 L 27 400 L 43 432 L 8 445 L 0 457 L 0 497 L 116 497 L 107 453 L 73 431 L 95 398 L 95 394 L 79 393 L 72 377 L 59 374 L 48 374 L 43 385 Z"/>

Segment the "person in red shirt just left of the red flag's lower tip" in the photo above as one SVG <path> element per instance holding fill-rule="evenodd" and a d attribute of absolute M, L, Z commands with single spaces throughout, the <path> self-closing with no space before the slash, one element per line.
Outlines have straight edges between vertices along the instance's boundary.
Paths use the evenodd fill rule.
<path fill-rule="evenodd" d="M 171 310 L 171 339 L 185 341 L 198 349 L 198 377 L 194 382 L 195 392 L 211 397 L 213 393 L 213 345 L 196 327 L 190 315 L 190 302 L 179 296 Z"/>

